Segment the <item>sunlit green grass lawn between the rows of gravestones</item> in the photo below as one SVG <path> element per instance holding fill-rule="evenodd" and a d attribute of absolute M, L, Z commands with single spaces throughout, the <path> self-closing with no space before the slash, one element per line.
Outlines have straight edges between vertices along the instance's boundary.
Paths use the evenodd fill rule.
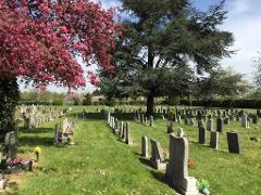
<path fill-rule="evenodd" d="M 87 112 L 95 109 L 87 107 Z M 73 110 L 83 110 L 83 107 L 73 107 Z M 35 146 L 40 146 L 42 154 L 34 172 L 20 176 L 23 182 L 13 188 L 13 194 L 175 194 L 164 182 L 163 172 L 156 171 L 148 159 L 140 157 L 141 135 L 156 139 L 163 148 L 169 148 L 166 121 L 158 119 L 154 127 L 147 127 L 132 121 L 127 115 L 121 118 L 130 122 L 136 145 L 128 146 L 114 135 L 100 114 L 77 119 L 76 144 L 67 147 L 51 144 L 57 121 L 34 132 L 21 131 L 20 155 L 34 155 Z M 250 125 L 250 129 L 243 129 L 239 122 L 224 126 L 225 131 L 239 133 L 241 155 L 227 152 L 225 131 L 220 134 L 219 150 L 212 150 L 208 144 L 197 143 L 196 126 L 173 125 L 175 130 L 184 128 L 189 140 L 189 156 L 195 164 L 189 176 L 208 180 L 211 194 L 259 194 L 261 143 L 250 138 L 261 138 L 261 123 Z"/>

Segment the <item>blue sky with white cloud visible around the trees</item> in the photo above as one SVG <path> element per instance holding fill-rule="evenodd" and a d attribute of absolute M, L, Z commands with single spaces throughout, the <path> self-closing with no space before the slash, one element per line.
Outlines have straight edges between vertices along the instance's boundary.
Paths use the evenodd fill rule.
<path fill-rule="evenodd" d="M 98 0 L 92 0 L 98 2 Z M 142 1 L 142 0 L 140 0 Z M 206 10 L 210 4 L 219 2 L 219 0 L 191 0 L 192 4 L 201 10 Z M 117 0 L 101 0 L 103 8 L 120 6 Z M 257 52 L 261 52 L 261 0 L 226 0 L 225 10 L 228 11 L 227 20 L 220 27 L 221 29 L 234 34 L 235 42 L 231 48 L 237 53 L 231 58 L 221 61 L 222 66 L 232 66 L 238 73 L 246 74 L 247 78 L 251 78 L 252 57 Z M 51 90 L 66 91 L 66 89 Z M 94 87 L 88 84 L 85 91 L 91 91 Z"/>

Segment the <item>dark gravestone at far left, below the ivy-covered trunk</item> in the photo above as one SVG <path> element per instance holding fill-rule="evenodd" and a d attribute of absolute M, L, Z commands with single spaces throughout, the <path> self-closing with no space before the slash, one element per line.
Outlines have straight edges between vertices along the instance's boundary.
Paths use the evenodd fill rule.
<path fill-rule="evenodd" d="M 4 155 L 7 156 L 8 160 L 13 160 L 16 158 L 17 154 L 17 136 L 15 131 L 11 131 L 5 133 L 4 136 Z"/>

